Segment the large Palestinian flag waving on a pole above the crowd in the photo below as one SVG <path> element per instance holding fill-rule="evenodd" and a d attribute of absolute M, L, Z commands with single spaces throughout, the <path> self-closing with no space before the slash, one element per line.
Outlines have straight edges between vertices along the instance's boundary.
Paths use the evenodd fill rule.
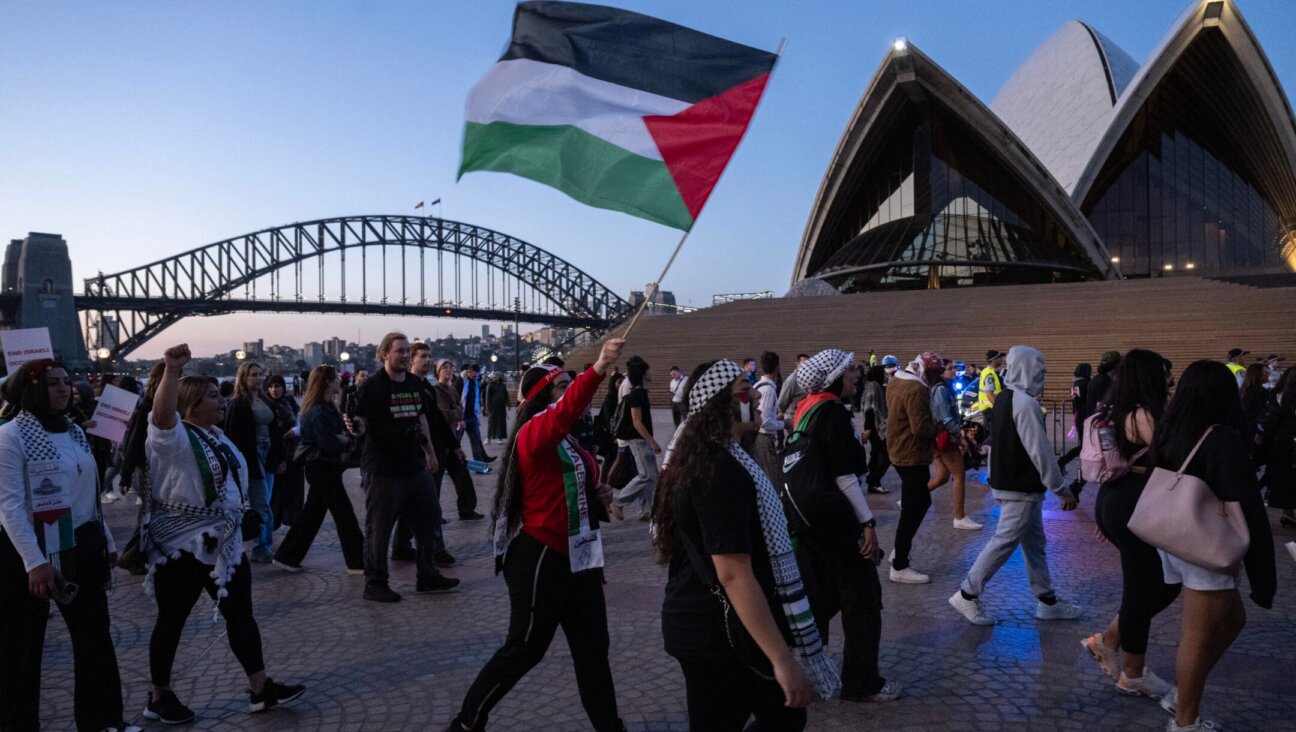
<path fill-rule="evenodd" d="M 775 58 L 616 8 L 521 3 L 512 43 L 468 96 L 459 175 L 512 172 L 688 231 Z"/>

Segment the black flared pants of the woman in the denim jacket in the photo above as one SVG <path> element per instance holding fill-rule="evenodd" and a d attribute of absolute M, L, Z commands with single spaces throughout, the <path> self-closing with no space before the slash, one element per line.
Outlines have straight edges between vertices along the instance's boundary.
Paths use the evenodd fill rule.
<path fill-rule="evenodd" d="M 342 486 L 342 465 L 312 460 L 306 464 L 306 479 L 311 486 L 306 504 L 302 505 L 284 542 L 279 544 L 275 558 L 293 566 L 302 564 L 311 543 L 320 532 L 324 513 L 328 512 L 333 514 L 333 525 L 337 526 L 337 539 L 342 544 L 342 558 L 347 569 L 363 569 L 364 534 L 360 532 L 360 522 L 356 521 L 351 499 Z"/>

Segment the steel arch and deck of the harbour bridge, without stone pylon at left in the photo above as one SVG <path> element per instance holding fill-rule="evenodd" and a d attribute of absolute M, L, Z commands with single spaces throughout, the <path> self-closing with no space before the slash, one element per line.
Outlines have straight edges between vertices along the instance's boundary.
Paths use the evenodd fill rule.
<path fill-rule="evenodd" d="M 384 255 L 384 295 L 373 302 L 367 289 L 359 301 L 346 297 L 346 254 L 380 247 Z M 411 304 L 402 279 L 399 303 L 386 297 L 386 247 L 399 247 L 402 271 L 410 250 L 419 251 L 419 269 L 426 275 L 424 255 L 430 251 L 454 254 L 476 260 L 516 279 L 557 307 L 553 312 L 463 307 L 459 302 L 429 303 L 425 277 L 419 279 L 417 303 Z M 323 295 L 323 258 L 341 257 L 342 298 L 327 301 Z M 305 299 L 301 293 L 302 263 L 320 259 L 320 294 Z M 362 259 L 363 260 L 363 259 Z M 238 288 L 255 288 L 255 281 L 295 268 L 297 292 L 292 299 L 276 293 L 271 299 L 233 299 Z M 439 263 L 438 263 L 439 268 Z M 367 282 L 362 281 L 362 288 Z M 312 302 L 314 301 L 314 302 Z M 113 275 L 84 280 L 84 294 L 76 297 L 76 308 L 87 315 L 86 342 L 93 356 L 100 346 L 109 347 L 110 358 L 124 356 L 149 338 L 188 315 L 218 315 L 236 311 L 273 312 L 355 312 L 412 316 L 435 316 L 455 311 L 456 317 L 512 317 L 601 330 L 626 317 L 631 306 L 613 290 L 570 262 L 517 237 L 463 222 L 430 216 L 363 215 L 316 219 L 226 238 L 206 246 L 143 264 Z M 446 312 L 442 314 L 441 311 Z M 98 343 L 100 334 L 91 328 L 89 314 L 117 314 L 124 329 L 114 343 Z M 127 317 L 121 317 L 126 314 Z"/>

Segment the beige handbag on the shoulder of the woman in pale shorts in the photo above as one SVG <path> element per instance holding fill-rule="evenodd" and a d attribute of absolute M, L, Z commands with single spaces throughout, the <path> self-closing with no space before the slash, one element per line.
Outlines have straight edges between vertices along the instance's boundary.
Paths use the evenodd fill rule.
<path fill-rule="evenodd" d="M 1198 439 L 1178 472 L 1152 470 L 1128 526 L 1135 536 L 1168 555 L 1236 574 L 1251 547 L 1242 504 L 1220 500 L 1204 481 L 1183 474 L 1213 429 L 1214 425 Z"/>

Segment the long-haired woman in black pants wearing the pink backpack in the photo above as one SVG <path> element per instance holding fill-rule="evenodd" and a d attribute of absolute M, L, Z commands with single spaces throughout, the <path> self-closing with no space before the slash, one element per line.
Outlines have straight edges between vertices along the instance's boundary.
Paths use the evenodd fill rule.
<path fill-rule="evenodd" d="M 1112 425 L 1116 448 L 1130 472 L 1098 488 L 1094 518 L 1103 536 L 1121 553 L 1121 605 L 1104 631 L 1082 641 L 1090 657 L 1116 681 L 1116 691 L 1159 700 L 1170 684 L 1146 667 L 1152 618 L 1179 596 L 1178 584 L 1166 584 L 1161 557 L 1126 525 L 1147 486 L 1148 446 L 1165 413 L 1165 365 L 1161 355 L 1143 349 L 1125 354 L 1116 367 L 1108 402 L 1100 415 Z M 1120 653 L 1117 653 L 1120 650 Z"/>

